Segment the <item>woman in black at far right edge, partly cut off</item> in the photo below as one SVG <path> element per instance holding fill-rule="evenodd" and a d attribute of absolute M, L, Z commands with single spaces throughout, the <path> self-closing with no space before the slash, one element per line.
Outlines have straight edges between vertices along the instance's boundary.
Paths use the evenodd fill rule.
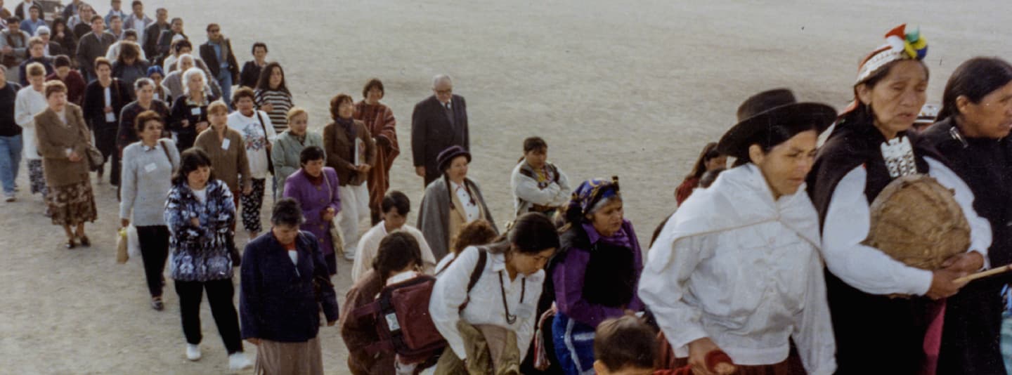
<path fill-rule="evenodd" d="M 1012 65 L 998 58 L 962 63 L 945 84 L 938 122 L 923 136 L 969 185 L 974 208 L 990 223 L 993 267 L 1012 263 Z M 1002 286 L 975 281 L 945 302 L 939 374 L 1005 374 L 1000 346 Z"/>

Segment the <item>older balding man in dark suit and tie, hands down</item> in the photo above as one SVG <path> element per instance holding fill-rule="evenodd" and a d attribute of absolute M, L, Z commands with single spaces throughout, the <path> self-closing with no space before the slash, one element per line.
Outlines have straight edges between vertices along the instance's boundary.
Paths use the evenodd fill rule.
<path fill-rule="evenodd" d="M 453 81 L 447 75 L 432 78 L 432 96 L 415 104 L 411 114 L 411 152 L 415 173 L 425 178 L 425 185 L 439 178 L 436 158 L 450 146 L 471 151 L 468 130 L 468 104 L 453 95 Z"/>

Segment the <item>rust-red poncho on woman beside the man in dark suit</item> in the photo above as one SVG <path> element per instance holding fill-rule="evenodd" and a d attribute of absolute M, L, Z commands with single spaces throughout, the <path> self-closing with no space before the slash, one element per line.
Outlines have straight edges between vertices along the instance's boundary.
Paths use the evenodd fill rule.
<path fill-rule="evenodd" d="M 354 118 L 364 122 L 365 128 L 376 139 L 375 163 L 366 180 L 369 187 L 369 210 L 376 216 L 381 212 L 380 203 L 390 188 L 390 169 L 394 166 L 394 159 L 401 154 L 401 148 L 397 144 L 397 119 L 390 107 L 378 103 L 369 105 L 364 100 L 355 103 Z M 388 143 L 378 140 L 380 138 Z"/>

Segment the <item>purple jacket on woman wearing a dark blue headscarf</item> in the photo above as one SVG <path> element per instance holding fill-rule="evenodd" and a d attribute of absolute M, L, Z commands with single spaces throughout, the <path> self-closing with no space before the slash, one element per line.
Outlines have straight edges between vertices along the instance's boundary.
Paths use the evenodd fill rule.
<path fill-rule="evenodd" d="M 628 220 L 622 220 L 621 229 L 607 238 L 601 237 L 594 229 L 594 226 L 589 223 L 583 224 L 582 227 L 582 231 L 585 235 L 581 233 L 581 237 L 585 236 L 585 238 L 578 239 L 569 244 L 565 244 L 564 241 L 563 247 L 568 246 L 569 249 L 566 251 L 562 261 L 555 266 L 552 274 L 552 281 L 556 289 L 556 306 L 559 308 L 559 311 L 579 322 L 594 327 L 604 319 L 618 317 L 625 313 L 620 307 L 594 303 L 588 301 L 584 296 L 584 278 L 587 276 L 587 265 L 590 263 L 591 258 L 590 247 L 585 245 L 589 244 L 593 246 L 599 241 L 632 250 L 634 270 L 630 270 L 635 280 L 632 284 L 632 298 L 625 306 L 625 309 L 634 311 L 643 310 L 643 302 L 640 301 L 640 297 L 636 292 L 640 281 L 640 273 L 643 271 L 643 250 L 640 248 L 636 231 L 632 230 L 632 223 Z"/>

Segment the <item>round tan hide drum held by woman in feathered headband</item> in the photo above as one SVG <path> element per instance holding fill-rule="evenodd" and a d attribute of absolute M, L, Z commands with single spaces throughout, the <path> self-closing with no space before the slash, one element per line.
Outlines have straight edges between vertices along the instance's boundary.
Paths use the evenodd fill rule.
<path fill-rule="evenodd" d="M 893 180 L 871 202 L 862 244 L 904 264 L 934 271 L 969 248 L 969 223 L 954 193 L 928 175 Z"/>

